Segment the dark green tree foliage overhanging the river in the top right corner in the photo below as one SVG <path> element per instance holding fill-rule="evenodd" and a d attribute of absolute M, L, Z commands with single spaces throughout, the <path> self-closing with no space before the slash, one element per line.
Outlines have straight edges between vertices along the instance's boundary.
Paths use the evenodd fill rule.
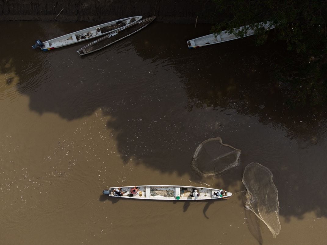
<path fill-rule="evenodd" d="M 293 85 L 293 102 L 323 104 L 327 102 L 327 0 L 213 0 L 221 13 L 213 33 L 228 30 L 239 37 L 250 25 L 256 41 L 262 44 L 267 32 L 255 23 L 272 21 L 275 41 L 285 42 L 282 64 L 276 77 Z"/>

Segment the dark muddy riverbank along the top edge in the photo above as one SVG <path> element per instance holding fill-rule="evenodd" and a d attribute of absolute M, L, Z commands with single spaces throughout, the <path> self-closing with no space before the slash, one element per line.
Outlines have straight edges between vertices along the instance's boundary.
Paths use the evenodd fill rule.
<path fill-rule="evenodd" d="M 217 18 L 213 3 L 195 0 L 0 2 L 0 21 L 102 22 L 136 15 L 143 17 L 155 15 L 156 21 L 175 24 L 192 24 L 196 22 L 197 17 L 197 23 L 212 23 Z"/>

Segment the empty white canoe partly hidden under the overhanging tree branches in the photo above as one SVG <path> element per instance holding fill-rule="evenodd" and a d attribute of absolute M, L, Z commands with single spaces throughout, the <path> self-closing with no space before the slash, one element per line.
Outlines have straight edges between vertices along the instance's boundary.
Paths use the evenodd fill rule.
<path fill-rule="evenodd" d="M 262 22 L 258 23 L 260 25 L 263 25 L 266 30 L 270 30 L 274 28 L 275 26 L 272 24 L 272 22 L 268 21 L 267 24 L 264 24 Z M 234 30 L 240 30 L 242 28 L 248 28 L 249 25 L 241 26 L 239 28 L 234 28 Z M 249 29 L 244 37 L 252 36 L 254 34 L 253 29 Z M 215 36 L 216 35 L 216 36 Z M 240 37 L 236 37 L 234 34 L 229 34 L 227 30 L 220 32 L 219 34 L 209 34 L 203 37 L 191 39 L 187 41 L 188 48 L 198 48 L 202 46 L 208 46 L 216 43 L 231 41 L 234 39 L 239 39 Z"/>

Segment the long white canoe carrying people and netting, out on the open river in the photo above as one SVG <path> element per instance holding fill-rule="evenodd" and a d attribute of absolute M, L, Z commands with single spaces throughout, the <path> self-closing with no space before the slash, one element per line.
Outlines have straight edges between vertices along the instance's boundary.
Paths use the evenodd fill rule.
<path fill-rule="evenodd" d="M 119 190 L 118 188 L 121 189 Z M 138 189 L 135 191 L 136 193 L 132 193 L 133 188 L 134 186 L 111 187 L 107 190 L 103 190 L 102 193 L 112 197 L 129 199 L 184 201 L 221 199 L 232 196 L 231 192 L 222 189 L 193 186 L 138 186 Z M 192 193 L 194 189 L 200 193 L 199 196 L 196 195 L 196 197 L 193 197 Z M 215 195 L 215 193 L 217 195 Z"/>

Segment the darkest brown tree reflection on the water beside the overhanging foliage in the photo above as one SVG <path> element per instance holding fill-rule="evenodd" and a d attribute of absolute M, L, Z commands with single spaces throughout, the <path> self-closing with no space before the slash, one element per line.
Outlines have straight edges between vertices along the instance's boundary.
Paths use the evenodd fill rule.
<path fill-rule="evenodd" d="M 209 25 L 166 28 L 162 23 L 149 25 L 149 32 L 163 31 L 145 37 L 146 46 L 141 45 L 143 36 L 134 36 L 135 50 L 143 59 L 164 61 L 180 74 L 190 112 L 208 107 L 218 112 L 232 109 L 237 114 L 258 117 L 260 123 L 283 126 L 291 137 L 300 136 L 314 144 L 319 140 L 325 107 L 291 106 L 284 93 L 289 88 L 274 80 L 275 69 L 285 56 L 283 43 L 269 39 L 265 45 L 255 46 L 254 38 L 248 37 L 189 50 L 186 41 L 181 40 L 208 34 Z M 164 30 L 170 35 L 165 45 Z"/>

